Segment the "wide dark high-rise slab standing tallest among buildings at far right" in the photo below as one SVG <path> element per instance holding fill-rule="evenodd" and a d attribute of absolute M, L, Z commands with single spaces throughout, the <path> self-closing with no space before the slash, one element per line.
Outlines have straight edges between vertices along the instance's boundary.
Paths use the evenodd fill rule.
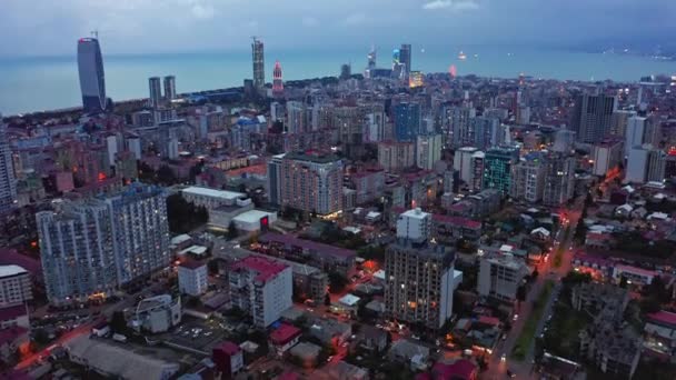
<path fill-rule="evenodd" d="M 617 110 L 617 99 L 606 94 L 579 96 L 573 111 L 571 130 L 581 142 L 599 142 L 610 134 L 613 112 Z"/>

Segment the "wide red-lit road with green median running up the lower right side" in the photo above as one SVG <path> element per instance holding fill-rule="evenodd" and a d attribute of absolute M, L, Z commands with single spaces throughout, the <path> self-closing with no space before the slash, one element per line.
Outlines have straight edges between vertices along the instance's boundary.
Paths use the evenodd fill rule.
<path fill-rule="evenodd" d="M 547 262 L 543 262 L 538 267 L 538 272 L 540 274 L 531 284 L 530 291 L 526 298 L 526 302 L 524 302 L 519 308 L 517 308 L 516 312 L 519 314 L 518 320 L 513 323 L 511 330 L 507 334 L 507 339 L 500 341 L 494 350 L 493 356 L 488 361 L 488 369 L 480 374 L 481 379 L 504 379 L 506 378 L 507 370 L 511 371 L 516 376 L 516 379 L 538 378 L 536 373 L 531 372 L 535 339 L 533 341 L 531 347 L 528 349 L 528 353 L 524 361 L 516 361 L 509 359 L 509 354 L 511 353 L 511 350 L 514 349 L 514 346 L 517 339 L 519 338 L 521 330 L 524 329 L 526 320 L 530 317 L 533 302 L 538 298 L 538 296 L 543 291 L 545 282 L 547 280 L 554 280 L 556 283 L 559 283 L 560 279 L 570 271 L 573 261 L 573 253 L 570 248 L 573 247 L 573 236 L 575 232 L 575 227 L 577 226 L 577 222 L 581 216 L 580 210 L 583 202 L 584 197 L 578 197 L 574 206 L 565 210 L 565 213 L 568 219 L 567 228 L 569 228 L 569 233 L 565 234 L 563 232 L 564 230 L 561 229 L 560 236 L 557 237 L 559 239 L 558 244 L 554 244 L 553 247 L 553 254 L 550 254 L 550 258 L 547 260 Z M 558 268 L 555 268 L 554 258 L 556 257 L 556 253 L 559 250 L 561 250 L 563 252 L 561 263 Z M 556 289 L 558 289 L 558 287 Z M 554 304 L 553 299 L 555 298 L 555 294 L 558 294 L 558 290 L 556 289 L 551 292 L 549 299 L 547 300 L 547 307 L 543 312 L 543 318 L 538 321 L 536 337 L 541 333 L 547 316 L 551 313 L 551 308 Z M 505 361 L 500 360 L 503 354 L 506 357 Z"/>

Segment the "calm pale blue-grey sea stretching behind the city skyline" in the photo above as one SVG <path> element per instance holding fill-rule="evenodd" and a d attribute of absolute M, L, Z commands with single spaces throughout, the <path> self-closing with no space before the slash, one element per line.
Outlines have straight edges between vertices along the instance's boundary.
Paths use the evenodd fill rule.
<path fill-rule="evenodd" d="M 106 54 L 103 66 L 107 96 L 112 100 L 148 97 L 148 78 L 176 76 L 179 93 L 242 86 L 251 78 L 251 52 L 195 52 L 162 54 Z M 459 52 L 466 56 L 461 60 Z M 362 72 L 368 49 L 362 51 L 266 50 L 266 80 L 271 81 L 279 60 L 285 80 L 338 76 L 350 63 L 352 73 Z M 391 66 L 391 52 L 378 50 L 378 67 Z M 534 78 L 559 80 L 605 80 L 636 82 L 649 74 L 676 74 L 676 61 L 649 57 L 590 53 L 555 49 L 507 47 L 445 48 L 412 51 L 412 68 L 424 72 L 458 76 Z M 4 116 L 77 107 L 80 100 L 74 54 L 63 57 L 0 58 L 0 112 Z"/>

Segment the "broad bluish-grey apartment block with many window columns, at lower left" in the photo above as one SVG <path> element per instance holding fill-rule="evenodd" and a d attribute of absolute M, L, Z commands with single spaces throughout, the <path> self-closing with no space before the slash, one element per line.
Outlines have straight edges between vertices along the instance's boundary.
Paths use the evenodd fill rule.
<path fill-rule="evenodd" d="M 171 261 L 160 188 L 132 183 L 107 198 L 53 206 L 36 214 L 51 303 L 110 294 Z"/>

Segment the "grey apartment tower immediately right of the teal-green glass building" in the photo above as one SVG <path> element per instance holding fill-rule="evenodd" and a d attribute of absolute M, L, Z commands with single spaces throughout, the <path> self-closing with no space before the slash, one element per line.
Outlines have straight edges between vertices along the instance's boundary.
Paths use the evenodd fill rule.
<path fill-rule="evenodd" d="M 545 170 L 543 154 L 531 152 L 524 156 L 513 169 L 511 198 L 529 203 L 539 202 L 545 190 Z"/>

